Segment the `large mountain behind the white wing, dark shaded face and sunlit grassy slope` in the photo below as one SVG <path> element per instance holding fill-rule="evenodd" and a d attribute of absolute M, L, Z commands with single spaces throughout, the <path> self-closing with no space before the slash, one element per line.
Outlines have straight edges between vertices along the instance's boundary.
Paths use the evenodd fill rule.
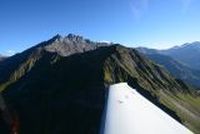
<path fill-rule="evenodd" d="M 85 39 L 66 38 L 70 43 L 64 45 L 56 36 L 0 64 L 0 89 L 18 116 L 20 134 L 97 134 L 107 87 L 126 81 L 191 130 L 200 131 L 200 97 L 164 68 L 121 45 L 87 41 L 80 47 L 78 42 Z M 71 42 L 77 46 L 68 49 Z"/>

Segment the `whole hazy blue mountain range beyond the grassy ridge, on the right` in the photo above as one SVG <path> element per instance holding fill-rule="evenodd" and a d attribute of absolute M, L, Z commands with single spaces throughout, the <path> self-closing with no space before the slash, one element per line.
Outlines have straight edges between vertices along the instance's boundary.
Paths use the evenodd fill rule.
<path fill-rule="evenodd" d="M 137 50 L 164 66 L 177 79 L 200 88 L 200 42 L 187 43 L 167 50 L 142 47 Z"/>

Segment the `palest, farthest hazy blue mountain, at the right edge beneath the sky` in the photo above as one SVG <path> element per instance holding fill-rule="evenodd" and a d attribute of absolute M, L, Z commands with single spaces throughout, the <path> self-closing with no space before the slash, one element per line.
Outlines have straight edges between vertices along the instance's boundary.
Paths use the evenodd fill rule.
<path fill-rule="evenodd" d="M 160 53 L 168 55 L 190 68 L 200 70 L 200 42 L 186 43 L 179 47 L 162 50 Z"/>

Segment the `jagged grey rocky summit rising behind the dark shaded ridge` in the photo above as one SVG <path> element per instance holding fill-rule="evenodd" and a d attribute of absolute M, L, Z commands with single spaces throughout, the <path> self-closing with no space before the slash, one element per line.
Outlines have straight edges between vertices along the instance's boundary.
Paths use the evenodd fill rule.
<path fill-rule="evenodd" d="M 48 41 L 40 43 L 37 48 L 43 48 L 48 52 L 55 52 L 61 56 L 69 56 L 75 53 L 83 53 L 108 45 L 110 44 L 93 42 L 82 36 L 70 33 L 67 36 L 57 34 Z"/>

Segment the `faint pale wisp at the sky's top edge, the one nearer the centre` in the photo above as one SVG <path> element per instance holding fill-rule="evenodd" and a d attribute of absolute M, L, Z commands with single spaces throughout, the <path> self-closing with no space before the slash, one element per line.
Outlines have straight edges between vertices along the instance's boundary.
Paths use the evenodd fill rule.
<path fill-rule="evenodd" d="M 136 19 L 140 19 L 148 9 L 150 0 L 132 0 L 131 9 Z"/>

